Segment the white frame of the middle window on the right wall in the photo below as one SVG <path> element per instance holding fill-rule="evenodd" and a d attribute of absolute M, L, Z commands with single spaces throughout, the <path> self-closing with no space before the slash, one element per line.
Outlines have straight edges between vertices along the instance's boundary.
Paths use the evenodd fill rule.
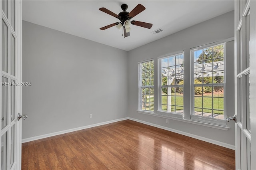
<path fill-rule="evenodd" d="M 183 57 L 184 57 L 184 51 L 178 51 L 176 53 L 171 53 L 171 54 L 168 54 L 168 55 L 165 55 L 165 56 L 160 56 L 158 57 L 158 114 L 159 115 L 163 115 L 163 116 L 166 116 L 166 117 L 174 117 L 174 118 L 180 118 L 180 119 L 183 119 L 183 113 L 175 113 L 175 112 L 168 112 L 168 111 L 163 111 L 162 110 L 162 62 L 161 60 L 162 59 L 165 59 L 165 58 L 169 58 L 169 57 L 174 57 L 176 55 L 182 55 L 183 54 Z M 175 65 L 176 66 L 176 63 Z M 184 85 L 164 85 L 164 87 L 182 87 L 184 89 Z M 184 95 L 183 95 L 183 109 L 184 109 Z M 184 111 L 184 110 L 183 110 Z"/>

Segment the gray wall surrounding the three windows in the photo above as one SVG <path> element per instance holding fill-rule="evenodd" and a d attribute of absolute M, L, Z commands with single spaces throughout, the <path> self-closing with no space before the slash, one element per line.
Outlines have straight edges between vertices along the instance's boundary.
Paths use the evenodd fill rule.
<path fill-rule="evenodd" d="M 157 106 L 157 58 L 168 53 L 184 50 L 184 72 L 190 71 L 190 48 L 234 37 L 234 11 L 202 22 L 160 40 L 148 43 L 128 52 L 128 116 L 141 121 L 154 123 L 175 130 L 210 138 L 234 145 L 234 122 L 228 123 L 230 129 L 220 130 L 184 123 L 181 121 L 145 115 L 138 109 L 138 62 L 154 58 L 154 105 Z M 190 113 L 190 76 L 184 75 L 184 111 Z M 188 82 L 188 83 L 186 83 Z M 234 41 L 226 44 L 226 99 L 227 115 L 234 115 Z M 156 109 L 155 109 L 156 111 Z"/>

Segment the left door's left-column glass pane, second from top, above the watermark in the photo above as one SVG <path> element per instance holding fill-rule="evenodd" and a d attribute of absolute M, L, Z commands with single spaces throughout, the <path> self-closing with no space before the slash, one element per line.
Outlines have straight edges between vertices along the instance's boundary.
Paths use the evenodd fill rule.
<path fill-rule="evenodd" d="M 8 70 L 8 29 L 4 20 L 2 20 L 2 70 L 7 72 Z"/>

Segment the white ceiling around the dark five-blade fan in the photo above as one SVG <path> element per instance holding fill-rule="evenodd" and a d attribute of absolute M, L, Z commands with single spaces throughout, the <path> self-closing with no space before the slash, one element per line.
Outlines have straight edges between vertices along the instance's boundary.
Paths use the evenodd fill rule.
<path fill-rule="evenodd" d="M 126 51 L 234 10 L 234 0 L 23 0 L 22 3 L 25 21 Z M 128 5 L 127 12 L 137 4 L 145 6 L 146 10 L 132 20 L 152 23 L 152 28 L 132 25 L 126 38 L 115 26 L 100 30 L 119 20 L 99 8 L 119 14 L 122 4 Z M 152 34 L 158 28 L 164 31 Z"/>

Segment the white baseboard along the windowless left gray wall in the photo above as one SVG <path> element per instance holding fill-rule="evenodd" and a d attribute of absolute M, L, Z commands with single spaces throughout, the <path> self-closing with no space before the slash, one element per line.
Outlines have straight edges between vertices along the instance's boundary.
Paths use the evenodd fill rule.
<path fill-rule="evenodd" d="M 59 135 L 59 134 L 74 132 L 74 131 L 82 130 L 82 129 L 86 129 L 86 128 L 97 127 L 97 126 L 106 125 L 106 124 L 109 124 L 109 123 L 124 121 L 124 120 L 127 120 L 127 119 L 128 119 L 128 117 L 125 117 L 125 118 L 122 118 L 122 119 L 116 119 L 116 120 L 112 120 L 112 121 L 106 121 L 106 122 L 102 122 L 102 123 L 96 123 L 96 124 L 88 125 L 88 126 L 84 126 L 84 127 L 78 127 L 78 128 L 68 129 L 68 130 L 62 130 L 62 131 L 59 131 L 59 132 L 53 132 L 53 133 L 49 133 L 49 134 L 43 134 L 43 135 L 40 135 L 40 136 L 31 137 L 31 138 L 24 138 L 24 139 L 22 139 L 21 142 L 22 142 L 22 143 L 30 142 L 30 141 L 33 141 L 33 140 L 38 140 L 38 139 L 42 139 L 42 138 L 48 138 L 48 137 L 56 136 L 56 135 Z"/>

